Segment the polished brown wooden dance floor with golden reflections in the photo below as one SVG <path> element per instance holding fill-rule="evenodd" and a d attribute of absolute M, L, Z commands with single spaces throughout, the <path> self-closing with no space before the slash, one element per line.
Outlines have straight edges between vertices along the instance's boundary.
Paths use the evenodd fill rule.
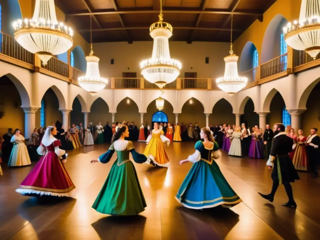
<path fill-rule="evenodd" d="M 143 152 L 145 143 L 134 143 Z M 281 206 L 287 201 L 283 186 L 273 204 L 258 191 L 269 193 L 271 170 L 265 160 L 229 157 L 221 153 L 217 163 L 229 184 L 243 199 L 231 209 L 204 211 L 182 207 L 175 199 L 191 164 L 179 161 L 194 152 L 194 143 L 172 143 L 167 147 L 168 168 L 135 164 L 147 208 L 139 216 L 115 217 L 91 208 L 116 154 L 108 164 L 91 164 L 108 145 L 69 151 L 65 164 L 76 185 L 74 198 L 50 202 L 21 196 L 14 190 L 32 166 L 9 169 L 0 177 L 0 239 L 319 239 L 320 179 L 300 172 L 292 184 L 297 210 Z M 2 164 L 4 165 L 4 164 Z"/>

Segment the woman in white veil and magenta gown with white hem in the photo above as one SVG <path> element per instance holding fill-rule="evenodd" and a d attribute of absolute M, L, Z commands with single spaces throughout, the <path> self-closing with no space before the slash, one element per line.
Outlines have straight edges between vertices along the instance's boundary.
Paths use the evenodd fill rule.
<path fill-rule="evenodd" d="M 22 181 L 16 192 L 22 195 L 70 196 L 76 188 L 60 159 L 65 162 L 65 150 L 59 148 L 61 143 L 54 135 L 56 127 L 47 127 L 40 146 L 39 155 L 44 155 L 28 176 Z M 59 159 L 60 158 L 60 159 Z"/>

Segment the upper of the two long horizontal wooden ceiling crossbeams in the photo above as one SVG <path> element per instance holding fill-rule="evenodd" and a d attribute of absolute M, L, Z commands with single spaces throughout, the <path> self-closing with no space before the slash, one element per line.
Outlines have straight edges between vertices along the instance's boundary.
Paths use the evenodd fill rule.
<path fill-rule="evenodd" d="M 114 1 L 114 0 L 111 0 Z M 141 9 L 146 9 L 146 10 L 141 10 Z M 231 12 L 231 11 L 220 11 L 217 9 L 209 9 L 207 8 L 205 11 L 200 10 L 190 10 L 190 8 L 180 8 L 180 10 L 176 9 L 170 9 L 170 8 L 165 8 L 163 13 L 185 13 L 185 14 L 234 14 L 234 15 L 248 15 L 248 16 L 262 16 L 262 13 L 258 12 L 250 12 L 249 11 L 243 11 L 243 12 Z M 106 10 L 103 12 L 92 12 L 92 13 L 87 13 L 87 12 L 82 12 L 82 13 L 70 13 L 66 14 L 66 16 L 85 16 L 85 15 L 107 15 L 107 14 L 146 14 L 146 13 L 159 13 L 158 10 L 150 10 L 150 8 L 140 8 L 140 10 L 130 10 L 130 11 L 125 11 L 125 10 Z"/>

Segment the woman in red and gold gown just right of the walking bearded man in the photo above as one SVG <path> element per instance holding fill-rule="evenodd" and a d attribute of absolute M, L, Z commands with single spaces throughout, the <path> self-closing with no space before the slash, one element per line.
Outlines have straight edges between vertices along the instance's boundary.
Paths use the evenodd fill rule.
<path fill-rule="evenodd" d="M 303 136 L 303 131 L 298 130 L 299 137 L 297 137 L 297 147 L 293 155 L 293 165 L 294 168 L 300 171 L 308 171 L 308 155 L 306 152 L 307 137 Z"/>

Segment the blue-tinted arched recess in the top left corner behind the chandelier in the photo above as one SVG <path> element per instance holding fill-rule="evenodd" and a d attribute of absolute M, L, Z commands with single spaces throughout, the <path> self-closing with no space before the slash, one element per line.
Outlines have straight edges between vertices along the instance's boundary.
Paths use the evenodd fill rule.
<path fill-rule="evenodd" d="M 18 0 L 1 1 L 1 18 L 2 18 L 1 31 L 10 36 L 13 36 L 14 28 L 12 28 L 12 22 L 18 19 L 22 19 L 22 13 L 21 13 L 19 1 Z"/>

